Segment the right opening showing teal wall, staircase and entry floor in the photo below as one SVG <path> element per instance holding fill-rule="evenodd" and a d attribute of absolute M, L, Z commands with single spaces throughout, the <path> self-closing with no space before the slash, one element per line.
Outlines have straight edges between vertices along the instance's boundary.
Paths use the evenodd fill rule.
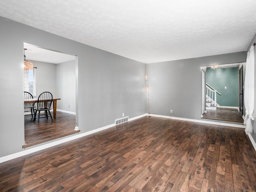
<path fill-rule="evenodd" d="M 201 118 L 244 122 L 244 65 L 234 63 L 201 67 L 205 72 L 204 76 L 202 74 Z"/>

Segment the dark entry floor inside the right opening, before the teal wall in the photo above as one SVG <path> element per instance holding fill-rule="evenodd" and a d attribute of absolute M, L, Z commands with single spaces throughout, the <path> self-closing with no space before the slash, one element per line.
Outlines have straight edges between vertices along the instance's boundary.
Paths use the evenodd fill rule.
<path fill-rule="evenodd" d="M 232 122 L 244 122 L 242 115 L 237 109 L 233 108 L 217 108 L 207 109 L 207 112 L 203 114 L 204 119 L 224 120 Z"/>

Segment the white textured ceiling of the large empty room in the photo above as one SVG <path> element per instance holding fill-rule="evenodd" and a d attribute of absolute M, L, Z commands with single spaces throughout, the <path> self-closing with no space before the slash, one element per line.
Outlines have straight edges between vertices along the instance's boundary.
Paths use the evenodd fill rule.
<path fill-rule="evenodd" d="M 0 16 L 144 63 L 245 51 L 256 0 L 1 0 Z"/>

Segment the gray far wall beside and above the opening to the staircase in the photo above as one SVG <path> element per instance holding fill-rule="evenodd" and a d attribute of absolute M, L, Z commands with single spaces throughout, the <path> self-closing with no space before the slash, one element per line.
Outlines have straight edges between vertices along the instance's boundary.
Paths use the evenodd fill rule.
<path fill-rule="evenodd" d="M 150 114 L 201 120 L 201 66 L 245 62 L 246 52 L 148 64 Z"/>

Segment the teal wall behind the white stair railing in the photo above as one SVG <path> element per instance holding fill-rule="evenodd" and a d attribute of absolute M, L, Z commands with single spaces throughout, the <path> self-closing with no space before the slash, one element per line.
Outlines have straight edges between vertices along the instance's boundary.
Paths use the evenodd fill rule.
<path fill-rule="evenodd" d="M 221 96 L 217 94 L 217 103 L 220 106 L 239 106 L 238 70 L 238 67 L 215 70 L 206 68 L 206 83 L 220 92 Z"/>

